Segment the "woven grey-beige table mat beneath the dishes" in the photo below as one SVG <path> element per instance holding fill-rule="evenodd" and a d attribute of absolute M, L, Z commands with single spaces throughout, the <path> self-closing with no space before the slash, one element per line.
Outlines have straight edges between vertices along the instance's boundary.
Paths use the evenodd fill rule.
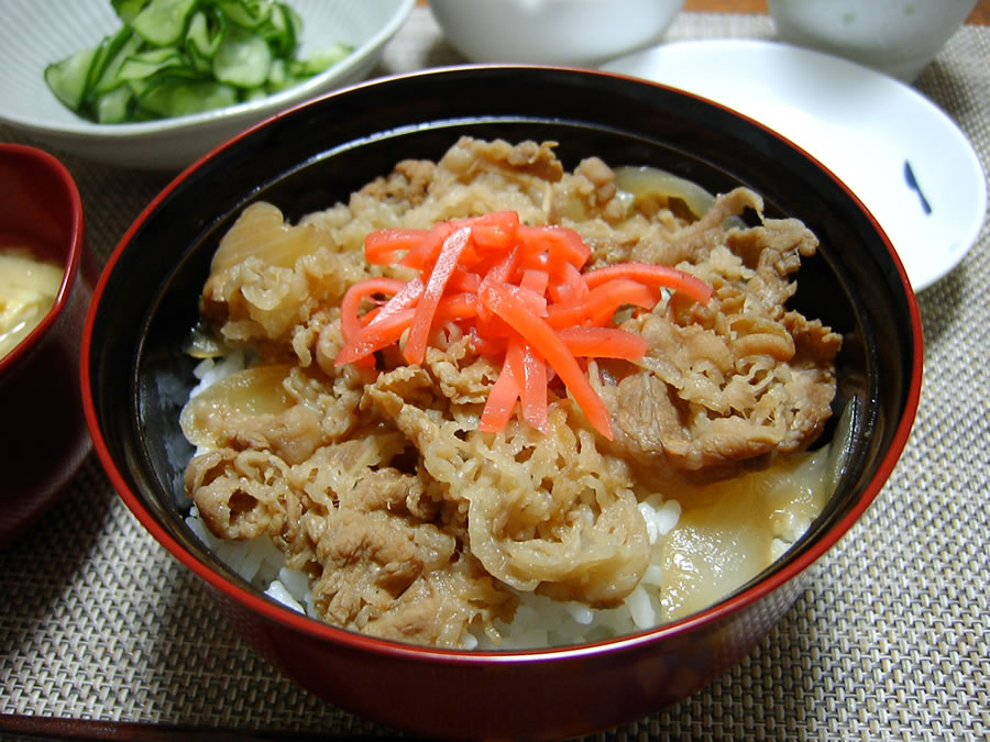
<path fill-rule="evenodd" d="M 671 40 L 772 38 L 761 15 L 682 14 Z M 460 62 L 417 8 L 380 74 Z M 990 29 L 967 26 L 916 82 L 990 170 Z M 0 126 L 0 140 L 23 141 Z M 102 262 L 166 176 L 65 162 Z M 990 738 L 990 234 L 920 296 L 927 342 L 912 439 L 860 523 L 781 623 L 688 700 L 602 739 Z M 2 476 L 2 475 L 0 475 Z M 2 485 L 0 485 L 2 486 Z M 154 542 L 95 458 L 0 552 L 0 732 L 51 718 L 241 734 L 391 734 L 280 677 Z M 51 724 L 65 735 L 69 727 Z"/>

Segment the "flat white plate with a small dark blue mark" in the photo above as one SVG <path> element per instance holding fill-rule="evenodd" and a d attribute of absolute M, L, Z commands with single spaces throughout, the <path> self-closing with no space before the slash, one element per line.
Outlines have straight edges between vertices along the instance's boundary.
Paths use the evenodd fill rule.
<path fill-rule="evenodd" d="M 987 180 L 966 135 L 909 86 L 853 62 L 777 42 L 680 42 L 603 69 L 713 100 L 831 169 L 870 210 L 915 291 L 976 242 Z"/>

